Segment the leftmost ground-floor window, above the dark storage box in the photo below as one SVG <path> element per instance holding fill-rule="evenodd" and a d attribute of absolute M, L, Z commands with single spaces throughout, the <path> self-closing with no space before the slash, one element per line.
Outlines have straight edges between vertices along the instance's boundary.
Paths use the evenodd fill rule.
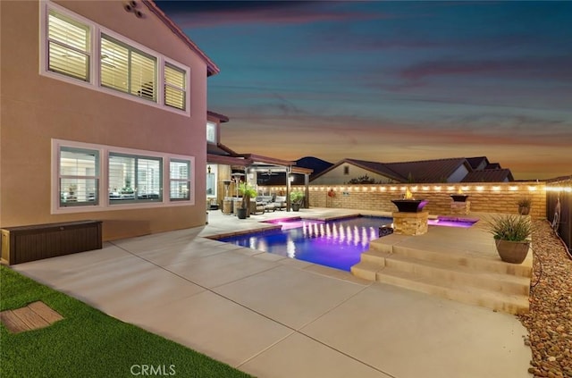
<path fill-rule="evenodd" d="M 99 152 L 61 147 L 59 154 L 60 206 L 99 203 Z"/>

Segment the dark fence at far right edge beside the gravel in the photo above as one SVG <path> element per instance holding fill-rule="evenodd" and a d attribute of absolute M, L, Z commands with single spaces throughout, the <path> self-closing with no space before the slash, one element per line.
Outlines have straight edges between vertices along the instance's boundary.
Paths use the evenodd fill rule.
<path fill-rule="evenodd" d="M 546 181 L 546 219 L 571 250 L 572 176 Z"/>

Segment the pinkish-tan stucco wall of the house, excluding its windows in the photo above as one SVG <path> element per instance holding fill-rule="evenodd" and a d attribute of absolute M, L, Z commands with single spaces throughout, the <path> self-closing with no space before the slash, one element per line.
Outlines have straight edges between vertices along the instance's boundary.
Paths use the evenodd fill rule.
<path fill-rule="evenodd" d="M 41 76 L 39 3 L 0 2 L 0 226 L 97 219 L 104 239 L 118 239 L 204 224 L 202 168 L 194 175 L 194 206 L 51 214 L 52 139 L 189 155 L 196 167 L 206 164 L 206 63 L 142 4 L 140 19 L 119 1 L 57 4 L 189 66 L 190 117 Z"/>

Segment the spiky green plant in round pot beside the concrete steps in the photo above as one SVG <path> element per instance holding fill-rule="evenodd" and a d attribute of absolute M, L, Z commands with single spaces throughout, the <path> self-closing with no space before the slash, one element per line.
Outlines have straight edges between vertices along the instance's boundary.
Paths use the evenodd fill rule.
<path fill-rule="evenodd" d="M 517 214 L 496 215 L 485 223 L 485 227 L 492 233 L 502 261 L 512 264 L 525 261 L 533 231 L 528 217 Z"/>

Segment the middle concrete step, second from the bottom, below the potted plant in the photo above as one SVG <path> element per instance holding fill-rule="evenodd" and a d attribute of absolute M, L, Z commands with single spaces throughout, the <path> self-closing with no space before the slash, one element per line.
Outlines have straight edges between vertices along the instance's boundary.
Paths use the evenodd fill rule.
<path fill-rule="evenodd" d="M 455 261 L 434 262 L 394 254 L 385 258 L 384 263 L 392 270 L 440 280 L 450 287 L 470 286 L 504 294 L 524 296 L 530 294 L 530 278 L 528 277 L 480 270 L 471 266 L 458 265 Z"/>

